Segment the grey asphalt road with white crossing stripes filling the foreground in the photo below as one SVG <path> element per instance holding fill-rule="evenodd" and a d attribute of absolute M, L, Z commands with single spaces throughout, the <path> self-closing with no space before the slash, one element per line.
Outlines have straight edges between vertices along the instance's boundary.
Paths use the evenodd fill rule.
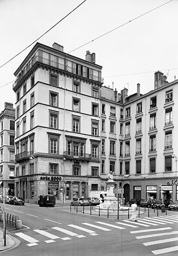
<path fill-rule="evenodd" d="M 78 213 L 70 212 L 69 207 L 45 208 L 29 203 L 6 204 L 5 208 L 18 215 L 25 226 L 12 233 L 21 242 L 3 251 L 4 256 L 175 256 L 178 253 L 175 211 L 158 217 L 156 211 L 150 211 L 149 217 L 146 211 L 140 215 L 140 221 L 128 222 L 126 217 L 117 220 L 82 214 L 82 207 L 78 207 Z"/>

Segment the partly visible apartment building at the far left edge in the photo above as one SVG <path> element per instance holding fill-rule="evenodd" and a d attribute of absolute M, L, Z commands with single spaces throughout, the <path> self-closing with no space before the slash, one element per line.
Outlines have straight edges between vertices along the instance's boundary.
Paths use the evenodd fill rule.
<path fill-rule="evenodd" d="M 4 103 L 0 113 L 0 193 L 2 184 L 6 195 L 14 195 L 14 155 L 15 155 L 15 109 L 13 104 Z"/>

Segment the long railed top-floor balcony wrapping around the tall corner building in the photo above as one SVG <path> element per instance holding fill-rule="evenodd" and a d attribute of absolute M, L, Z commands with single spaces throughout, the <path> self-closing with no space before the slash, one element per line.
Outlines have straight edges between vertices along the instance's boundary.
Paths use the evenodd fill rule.
<path fill-rule="evenodd" d="M 79 75 L 79 76 L 82 76 L 82 77 L 85 77 L 85 78 L 88 78 L 88 79 L 91 79 L 91 80 L 94 80 L 94 81 L 98 81 L 98 82 L 101 82 L 101 83 L 104 82 L 103 78 L 101 78 L 100 76 L 93 75 L 93 74 L 90 74 L 90 73 L 87 73 L 87 72 L 84 72 L 84 71 L 82 73 L 80 73 L 80 74 L 77 74 L 76 69 L 72 68 L 71 66 L 65 66 L 65 65 L 60 64 L 58 62 L 55 62 L 53 60 L 50 60 L 50 59 L 47 59 L 47 58 L 43 58 L 41 56 L 36 55 L 36 56 L 33 56 L 32 60 L 29 63 L 29 65 L 28 66 L 26 65 L 26 67 L 21 71 L 21 73 L 19 74 L 18 78 L 13 83 L 12 88 L 14 88 L 23 79 L 23 77 L 27 74 L 27 72 L 37 62 L 42 63 L 44 65 L 53 66 L 53 67 L 58 68 L 58 69 L 65 70 L 65 71 L 68 71 L 70 73 L 74 73 L 76 75 Z"/>

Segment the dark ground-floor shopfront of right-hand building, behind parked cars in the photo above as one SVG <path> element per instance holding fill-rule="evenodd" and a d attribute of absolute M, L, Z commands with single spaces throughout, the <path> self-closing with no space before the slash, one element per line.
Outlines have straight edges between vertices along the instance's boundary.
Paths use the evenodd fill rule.
<path fill-rule="evenodd" d="M 178 200 L 178 179 L 129 180 L 130 198 L 152 198 Z"/>

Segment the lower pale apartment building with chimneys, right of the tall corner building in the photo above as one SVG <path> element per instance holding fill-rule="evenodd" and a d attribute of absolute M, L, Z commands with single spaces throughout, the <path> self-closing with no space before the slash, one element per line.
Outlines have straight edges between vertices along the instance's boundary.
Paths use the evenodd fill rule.
<path fill-rule="evenodd" d="M 108 170 L 129 198 L 178 199 L 177 95 L 178 80 L 170 83 L 160 71 L 154 89 L 127 95 L 101 88 L 101 183 Z"/>

